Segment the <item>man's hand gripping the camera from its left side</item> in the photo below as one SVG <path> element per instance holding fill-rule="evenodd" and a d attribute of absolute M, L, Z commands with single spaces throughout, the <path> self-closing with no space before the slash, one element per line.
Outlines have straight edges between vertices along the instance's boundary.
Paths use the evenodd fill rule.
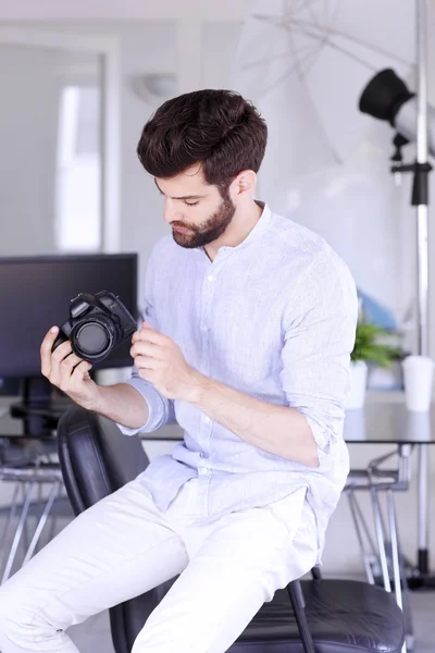
<path fill-rule="evenodd" d="M 90 362 L 73 353 L 70 341 L 51 348 L 58 336 L 59 328 L 53 326 L 47 333 L 40 347 L 41 372 L 50 383 L 62 390 L 79 406 L 92 410 L 98 404 L 99 386 L 89 375 Z"/>

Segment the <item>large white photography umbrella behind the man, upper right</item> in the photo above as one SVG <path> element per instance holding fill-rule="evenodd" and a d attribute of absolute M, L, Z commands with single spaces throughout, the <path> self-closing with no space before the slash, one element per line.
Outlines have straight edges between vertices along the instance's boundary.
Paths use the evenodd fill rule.
<path fill-rule="evenodd" d="M 358 111 L 373 75 L 414 59 L 414 1 L 257 0 L 232 86 L 260 109 L 270 138 L 260 175 L 283 210 L 291 184 L 352 152 L 372 120 Z"/>

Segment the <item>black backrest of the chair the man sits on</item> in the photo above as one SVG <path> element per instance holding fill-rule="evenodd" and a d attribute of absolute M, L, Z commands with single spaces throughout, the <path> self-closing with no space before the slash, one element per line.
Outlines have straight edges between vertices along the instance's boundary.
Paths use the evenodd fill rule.
<path fill-rule="evenodd" d="M 58 448 L 76 515 L 135 479 L 149 464 L 137 435 L 123 435 L 116 424 L 79 406 L 59 420 Z"/>

